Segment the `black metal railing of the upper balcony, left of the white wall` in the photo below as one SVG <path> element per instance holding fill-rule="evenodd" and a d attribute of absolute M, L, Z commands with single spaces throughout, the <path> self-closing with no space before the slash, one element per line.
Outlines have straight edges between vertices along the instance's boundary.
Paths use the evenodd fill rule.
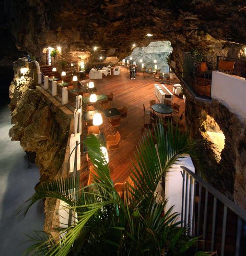
<path fill-rule="evenodd" d="M 198 97 L 211 98 L 213 57 L 184 53 L 183 81 Z"/>

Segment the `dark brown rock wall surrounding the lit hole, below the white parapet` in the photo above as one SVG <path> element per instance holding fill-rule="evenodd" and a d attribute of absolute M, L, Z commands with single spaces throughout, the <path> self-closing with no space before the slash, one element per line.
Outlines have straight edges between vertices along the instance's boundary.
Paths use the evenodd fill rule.
<path fill-rule="evenodd" d="M 246 120 L 217 100 L 197 99 L 187 90 L 185 94 L 185 117 L 191 137 L 204 138 L 207 114 L 214 118 L 225 136 L 219 163 L 211 146 L 205 145 L 205 166 L 200 169 L 200 174 L 214 188 L 246 209 Z"/>

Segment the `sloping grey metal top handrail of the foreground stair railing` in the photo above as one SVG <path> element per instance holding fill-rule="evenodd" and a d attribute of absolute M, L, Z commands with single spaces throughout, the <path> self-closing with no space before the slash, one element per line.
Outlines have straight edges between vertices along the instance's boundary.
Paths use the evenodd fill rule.
<path fill-rule="evenodd" d="M 209 185 L 207 182 L 205 182 L 203 179 L 201 179 L 198 175 L 190 171 L 185 166 L 180 166 L 184 171 L 189 173 L 197 182 L 199 182 L 207 191 L 209 191 L 211 194 L 213 194 L 219 201 L 221 201 L 223 204 L 225 204 L 232 212 L 235 212 L 237 216 L 239 216 L 242 220 L 246 221 L 246 210 L 239 207 L 237 204 L 235 204 L 233 201 L 231 201 L 229 198 L 224 196 L 220 191 L 216 190 L 214 187 Z"/>

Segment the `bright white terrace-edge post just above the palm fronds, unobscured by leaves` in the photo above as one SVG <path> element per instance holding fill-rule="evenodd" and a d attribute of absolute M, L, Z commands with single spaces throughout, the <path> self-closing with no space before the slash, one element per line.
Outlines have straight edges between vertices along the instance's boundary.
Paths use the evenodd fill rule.
<path fill-rule="evenodd" d="M 70 159 L 69 159 L 69 163 L 70 163 L 69 172 L 70 173 L 73 172 L 75 157 L 77 158 L 77 171 L 80 170 L 80 145 L 78 145 L 78 147 L 77 147 L 77 155 L 75 156 L 76 141 L 77 141 L 77 143 L 80 143 L 80 134 L 72 134 L 70 137 Z"/>

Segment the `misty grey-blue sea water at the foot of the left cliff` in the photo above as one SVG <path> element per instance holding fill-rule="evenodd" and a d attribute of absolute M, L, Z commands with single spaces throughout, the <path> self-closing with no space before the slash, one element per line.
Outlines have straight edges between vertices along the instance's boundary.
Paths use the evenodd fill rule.
<path fill-rule="evenodd" d="M 9 138 L 12 126 L 7 104 L 0 106 L 0 255 L 21 256 L 30 246 L 26 234 L 43 229 L 44 207 L 39 202 L 24 219 L 16 216 L 20 205 L 34 194 L 39 168 L 27 160 L 20 142 Z"/>

